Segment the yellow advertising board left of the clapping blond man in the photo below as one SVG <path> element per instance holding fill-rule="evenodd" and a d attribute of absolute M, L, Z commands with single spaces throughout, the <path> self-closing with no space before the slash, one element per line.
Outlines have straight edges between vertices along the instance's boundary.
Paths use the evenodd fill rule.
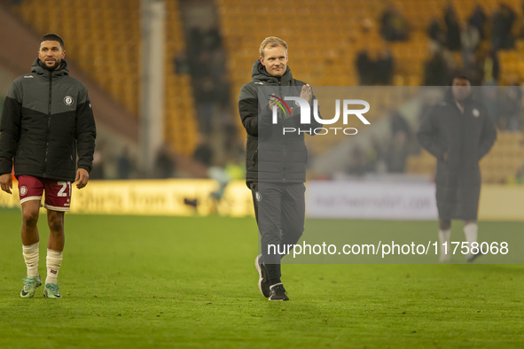
<path fill-rule="evenodd" d="M 243 181 L 231 182 L 217 200 L 219 189 L 213 180 L 90 181 L 85 189 L 73 185 L 71 213 L 208 215 L 231 217 L 254 215 L 251 192 Z M 196 200 L 194 206 L 184 201 Z M 0 193 L 0 208 L 19 207 L 18 188 L 13 195 Z"/>

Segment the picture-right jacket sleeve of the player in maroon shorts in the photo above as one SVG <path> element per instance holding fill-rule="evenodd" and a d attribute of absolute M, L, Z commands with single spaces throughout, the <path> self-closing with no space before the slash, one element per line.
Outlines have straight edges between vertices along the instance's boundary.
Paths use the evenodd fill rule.
<path fill-rule="evenodd" d="M 78 168 L 90 172 L 93 167 L 93 153 L 95 152 L 95 138 L 97 128 L 91 108 L 87 89 L 82 89 L 79 103 L 76 107 L 76 147 L 78 151 Z"/>

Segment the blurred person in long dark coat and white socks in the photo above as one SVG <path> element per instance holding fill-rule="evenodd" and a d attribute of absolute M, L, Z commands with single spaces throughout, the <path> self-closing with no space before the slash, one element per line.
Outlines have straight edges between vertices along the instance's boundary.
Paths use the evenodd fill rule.
<path fill-rule="evenodd" d="M 450 260 L 451 220 L 464 221 L 468 251 L 477 242 L 481 194 L 479 160 L 491 149 L 497 129 L 486 109 L 473 100 L 471 82 L 458 76 L 444 100 L 428 110 L 417 136 L 420 145 L 437 159 L 440 260 L 445 262 Z M 480 254 L 470 251 L 466 260 L 473 261 Z"/>

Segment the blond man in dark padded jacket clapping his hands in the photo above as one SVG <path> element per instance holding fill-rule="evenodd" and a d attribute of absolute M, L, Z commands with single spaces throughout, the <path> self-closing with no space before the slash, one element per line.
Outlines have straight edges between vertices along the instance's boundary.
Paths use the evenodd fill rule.
<path fill-rule="evenodd" d="M 280 281 L 280 260 L 288 246 L 301 238 L 305 217 L 308 151 L 304 132 L 284 134 L 283 128 L 322 127 L 315 119 L 301 125 L 298 105 L 292 104 L 285 111 L 283 98 L 301 97 L 309 103 L 310 115 L 314 115 L 311 88 L 293 79 L 287 60 L 285 41 L 274 36 L 266 38 L 260 46 L 260 58 L 253 65 L 253 81 L 242 87 L 239 96 L 240 117 L 247 132 L 246 184 L 253 193 L 261 234 L 262 254 L 256 257 L 255 266 L 259 290 L 270 300 L 288 300 Z M 278 111 L 275 121 L 273 111 L 277 105 L 283 112 Z"/>

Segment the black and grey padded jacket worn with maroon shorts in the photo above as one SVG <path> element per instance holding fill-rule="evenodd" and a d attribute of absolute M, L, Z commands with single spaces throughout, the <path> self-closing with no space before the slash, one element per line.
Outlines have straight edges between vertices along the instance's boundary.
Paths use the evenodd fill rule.
<path fill-rule="evenodd" d="M 74 181 L 76 167 L 90 172 L 96 128 L 90 97 L 82 82 L 43 68 L 12 82 L 0 120 L 0 174 L 32 175 Z M 76 157 L 78 154 L 78 164 Z"/>

